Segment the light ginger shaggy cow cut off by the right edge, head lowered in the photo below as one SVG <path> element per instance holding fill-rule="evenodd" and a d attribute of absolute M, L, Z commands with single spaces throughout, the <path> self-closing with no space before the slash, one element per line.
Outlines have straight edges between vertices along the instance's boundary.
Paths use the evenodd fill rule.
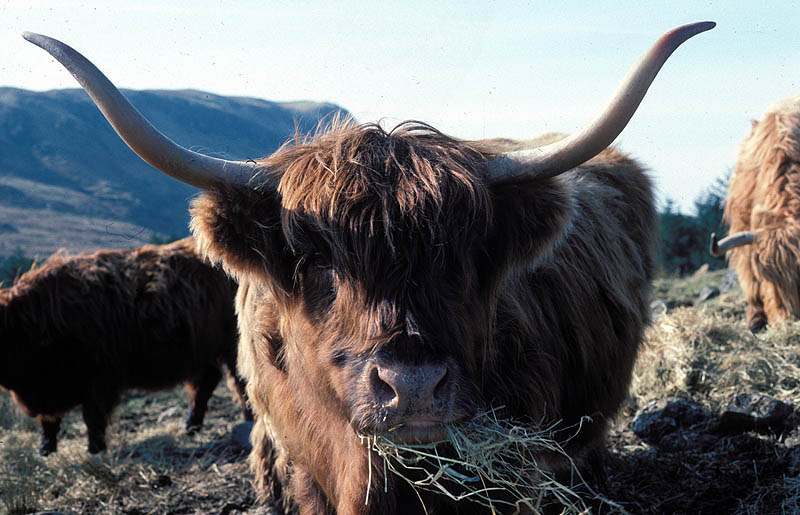
<path fill-rule="evenodd" d="M 731 235 L 712 235 L 711 253 L 726 251 L 747 297 L 747 324 L 800 316 L 800 95 L 753 122 L 728 186 L 723 214 Z"/>

